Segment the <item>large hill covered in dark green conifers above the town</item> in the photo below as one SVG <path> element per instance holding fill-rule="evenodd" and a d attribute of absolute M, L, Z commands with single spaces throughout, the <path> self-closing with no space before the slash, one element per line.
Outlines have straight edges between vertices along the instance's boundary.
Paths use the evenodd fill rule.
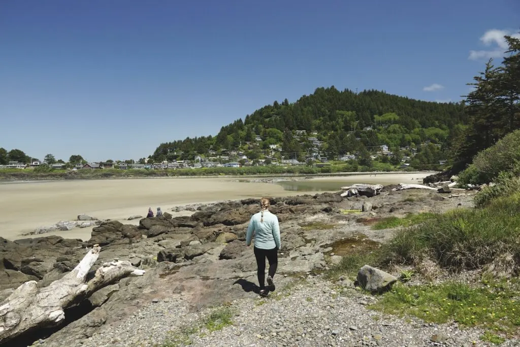
<path fill-rule="evenodd" d="M 244 120 L 223 126 L 216 136 L 162 143 L 152 158 L 191 159 L 210 149 L 240 150 L 250 141 L 258 143 L 259 150 L 279 144 L 282 156 L 285 152 L 308 152 L 310 144 L 293 138 L 296 130 L 306 130 L 309 137 L 316 132 L 314 136 L 323 142 L 319 150 L 328 156 L 383 144 L 389 148 L 414 147 L 425 141 L 444 145 L 450 135 L 454 136 L 451 131 L 465 123 L 461 104 L 419 101 L 376 90 L 356 94 L 332 86 L 317 88 L 314 94 L 304 95 L 294 103 L 287 99 L 275 101 Z"/>

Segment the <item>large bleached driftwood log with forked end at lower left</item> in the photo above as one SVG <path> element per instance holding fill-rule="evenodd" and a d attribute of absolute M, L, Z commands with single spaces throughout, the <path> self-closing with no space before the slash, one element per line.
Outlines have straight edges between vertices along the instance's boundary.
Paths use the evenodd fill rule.
<path fill-rule="evenodd" d="M 0 304 L 0 341 L 4 342 L 31 330 L 57 326 L 65 319 L 64 309 L 81 302 L 98 289 L 127 276 L 142 276 L 128 261 L 105 263 L 94 278 L 87 273 L 99 257 L 100 247 L 90 249 L 79 264 L 47 287 L 37 288 L 36 281 L 18 287 Z"/>

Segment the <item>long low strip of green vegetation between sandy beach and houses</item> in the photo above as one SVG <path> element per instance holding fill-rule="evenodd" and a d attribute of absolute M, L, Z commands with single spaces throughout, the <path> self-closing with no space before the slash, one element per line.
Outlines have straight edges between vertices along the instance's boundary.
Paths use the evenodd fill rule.
<path fill-rule="evenodd" d="M 362 171 L 346 170 L 345 165 L 330 167 L 309 166 L 265 166 L 265 167 L 219 167 L 200 169 L 99 169 L 99 170 L 53 170 L 37 172 L 30 169 L 0 170 L 0 180 L 83 180 L 83 179 L 123 179 L 123 178 L 233 178 L 233 177 L 306 177 L 306 176 L 352 176 L 352 175 L 384 175 L 384 174 L 418 174 L 420 170 L 374 170 L 361 168 Z"/>

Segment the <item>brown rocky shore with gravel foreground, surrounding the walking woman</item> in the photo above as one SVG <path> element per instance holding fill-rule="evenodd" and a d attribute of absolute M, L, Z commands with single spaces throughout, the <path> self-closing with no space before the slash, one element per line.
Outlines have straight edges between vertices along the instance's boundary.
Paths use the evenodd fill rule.
<path fill-rule="evenodd" d="M 37 281 L 40 288 L 56 281 L 94 245 L 101 251 L 91 272 L 107 261 L 128 260 L 146 273 L 99 289 L 66 311 L 66 322 L 58 328 L 0 345 L 160 346 L 190 319 L 195 322 L 223 304 L 239 314 L 232 318 L 235 323 L 191 334 L 193 345 L 419 346 L 444 340 L 471 344 L 478 329 L 423 326 L 417 319 L 410 323 L 367 310 L 365 302 L 373 297 L 363 297 L 346 279 L 331 283 L 321 275 L 342 255 L 356 250 L 353 240 L 356 247 L 377 247 L 392 238 L 393 230 L 372 230 L 374 220 L 471 207 L 474 194 L 393 188 L 384 187 L 373 197 L 338 192 L 273 198 L 271 210 L 280 220 L 282 249 L 277 292 L 271 295 L 279 300 L 258 298 L 255 260 L 244 243 L 247 223 L 258 211 L 257 199 L 177 207 L 190 215 L 165 213 L 141 219 L 139 225 L 101 222 L 86 242 L 59 236 L 15 242 L 2 238 L 2 300 L 26 281 Z M 325 224 L 327 228 L 322 227 Z M 380 323 L 373 320 L 375 315 L 382 317 Z M 392 324 L 383 325 L 385 321 Z M 435 333 L 445 339 L 431 341 Z"/>

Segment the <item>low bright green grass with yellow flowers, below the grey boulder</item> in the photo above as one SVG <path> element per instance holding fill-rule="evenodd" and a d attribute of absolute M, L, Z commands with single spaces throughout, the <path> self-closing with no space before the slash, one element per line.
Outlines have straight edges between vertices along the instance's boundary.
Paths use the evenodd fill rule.
<path fill-rule="evenodd" d="M 518 289 L 517 281 L 483 281 L 475 287 L 456 282 L 422 286 L 396 284 L 369 308 L 398 316 L 412 315 L 425 322 L 479 326 L 489 331 L 490 341 L 491 333 L 509 336 L 520 330 Z"/>

